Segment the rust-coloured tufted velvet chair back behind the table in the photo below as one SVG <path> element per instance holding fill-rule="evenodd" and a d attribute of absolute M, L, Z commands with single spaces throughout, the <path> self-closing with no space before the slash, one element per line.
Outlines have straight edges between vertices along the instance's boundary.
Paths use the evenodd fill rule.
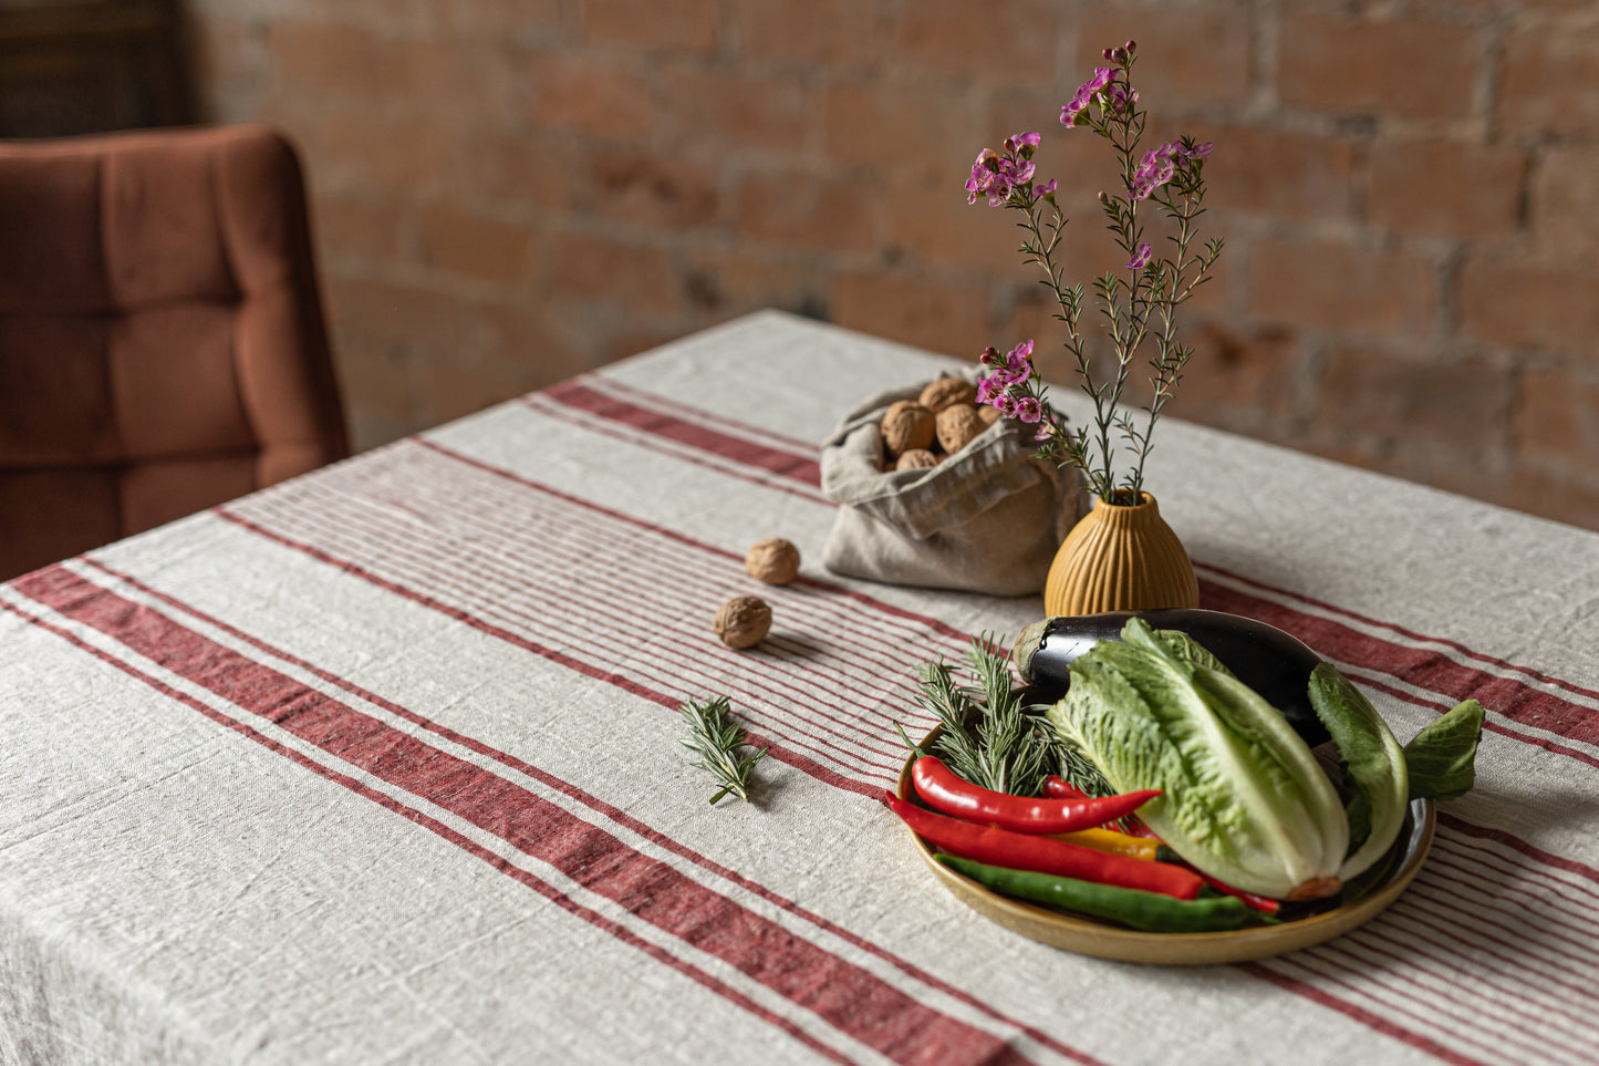
<path fill-rule="evenodd" d="M 349 453 L 289 144 L 0 144 L 0 579 Z"/>

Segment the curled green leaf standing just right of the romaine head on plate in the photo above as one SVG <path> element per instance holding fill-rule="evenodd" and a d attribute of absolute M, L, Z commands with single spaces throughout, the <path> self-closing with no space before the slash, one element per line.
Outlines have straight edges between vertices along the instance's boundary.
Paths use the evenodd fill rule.
<path fill-rule="evenodd" d="M 1348 880 L 1380 860 L 1398 839 L 1409 804 L 1409 771 L 1393 730 L 1332 663 L 1311 671 L 1310 703 L 1361 791 L 1346 820 L 1370 826 L 1361 847 L 1338 868 L 1338 877 Z"/>

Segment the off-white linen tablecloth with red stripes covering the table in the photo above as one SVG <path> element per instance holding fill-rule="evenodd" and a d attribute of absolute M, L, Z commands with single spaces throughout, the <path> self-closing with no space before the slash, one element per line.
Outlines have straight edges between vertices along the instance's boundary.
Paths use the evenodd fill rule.
<path fill-rule="evenodd" d="M 1388 912 L 1257 964 L 934 882 L 875 799 L 913 669 L 1041 602 L 828 575 L 815 442 L 948 365 L 753 315 L 0 587 L 0 1061 L 1593 1061 L 1588 531 L 1167 421 L 1204 605 L 1401 739 L 1481 699 L 1476 791 Z M 768 536 L 793 586 L 744 573 Z M 756 804 L 678 744 L 712 693 Z"/>

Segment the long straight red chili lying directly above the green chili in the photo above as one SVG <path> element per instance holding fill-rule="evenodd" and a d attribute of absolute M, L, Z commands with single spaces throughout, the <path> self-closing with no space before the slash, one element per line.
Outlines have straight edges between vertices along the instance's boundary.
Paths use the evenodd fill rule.
<path fill-rule="evenodd" d="M 918 759 L 918 762 L 921 760 Z M 900 821 L 910 826 L 916 836 L 950 855 L 990 866 L 1076 877 L 1078 880 L 1121 885 L 1122 888 L 1143 888 L 1178 900 L 1196 898 L 1204 884 L 1199 880 L 1199 874 L 1170 863 L 1110 855 L 1065 840 L 945 818 L 902 800 L 892 792 L 884 792 L 883 797 L 887 800 L 889 810 L 899 815 Z"/>

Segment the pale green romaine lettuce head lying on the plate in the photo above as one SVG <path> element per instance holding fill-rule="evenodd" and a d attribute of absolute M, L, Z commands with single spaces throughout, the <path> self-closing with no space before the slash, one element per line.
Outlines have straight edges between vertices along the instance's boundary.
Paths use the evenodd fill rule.
<path fill-rule="evenodd" d="M 1212 877 L 1276 900 L 1338 890 L 1350 829 L 1310 747 L 1282 714 L 1180 634 L 1134 618 L 1071 664 L 1049 711 L 1062 739 Z"/>

